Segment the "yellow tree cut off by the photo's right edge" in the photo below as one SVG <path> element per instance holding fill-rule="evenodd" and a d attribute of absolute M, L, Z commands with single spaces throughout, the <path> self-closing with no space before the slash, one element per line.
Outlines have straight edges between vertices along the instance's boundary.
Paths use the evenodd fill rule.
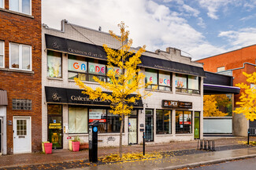
<path fill-rule="evenodd" d="M 240 107 L 237 107 L 234 113 L 244 114 L 245 118 L 254 121 L 256 119 L 256 72 L 253 74 L 243 72 L 243 75 L 247 77 L 247 82 L 250 83 L 252 87 L 244 83 L 236 84 L 240 89 L 244 89 L 244 92 L 241 92 L 241 96 L 239 97 L 240 101 L 236 102 Z"/>

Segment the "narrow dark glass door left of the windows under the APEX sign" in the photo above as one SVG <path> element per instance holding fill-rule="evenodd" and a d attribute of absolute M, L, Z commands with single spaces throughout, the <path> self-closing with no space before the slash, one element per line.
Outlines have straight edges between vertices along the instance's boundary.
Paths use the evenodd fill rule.
<path fill-rule="evenodd" d="M 154 141 L 154 110 L 146 110 L 145 136 L 147 142 Z"/>

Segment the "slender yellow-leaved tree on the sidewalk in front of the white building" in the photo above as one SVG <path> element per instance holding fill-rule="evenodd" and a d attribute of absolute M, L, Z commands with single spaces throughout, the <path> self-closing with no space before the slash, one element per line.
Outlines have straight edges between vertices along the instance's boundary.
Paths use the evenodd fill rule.
<path fill-rule="evenodd" d="M 113 31 L 109 31 L 109 34 L 121 44 L 120 49 L 111 49 L 107 45 L 103 45 L 107 54 L 107 78 L 108 81 L 101 81 L 99 78 L 94 77 L 94 80 L 112 94 L 102 92 L 102 88 L 98 87 L 92 89 L 85 85 L 80 79 L 75 78 L 76 85 L 79 85 L 80 89 L 84 89 L 83 94 L 90 96 L 90 99 L 101 98 L 102 101 L 111 101 L 110 113 L 118 114 L 121 116 L 121 129 L 120 129 L 120 143 L 119 153 L 122 157 L 122 132 L 124 127 L 124 117 L 131 114 L 133 109 L 132 103 L 136 100 L 146 98 L 150 96 L 150 92 L 145 92 L 144 89 L 151 82 L 144 83 L 145 75 L 140 73 L 138 64 L 141 63 L 140 56 L 146 50 L 146 46 L 136 52 L 131 50 L 132 39 L 128 39 L 129 31 L 126 31 L 124 22 L 118 24 L 121 31 L 121 36 L 117 36 Z M 117 73 L 117 67 L 121 73 Z M 143 89 L 143 90 L 140 90 Z M 142 92 L 141 92 L 142 91 Z M 135 94 L 131 96 L 131 94 Z"/>

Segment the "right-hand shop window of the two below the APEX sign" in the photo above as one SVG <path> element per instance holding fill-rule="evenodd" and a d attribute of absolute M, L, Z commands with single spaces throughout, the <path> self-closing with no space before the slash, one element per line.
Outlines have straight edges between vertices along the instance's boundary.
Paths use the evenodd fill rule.
<path fill-rule="evenodd" d="M 192 112 L 176 110 L 176 133 L 192 133 Z"/>

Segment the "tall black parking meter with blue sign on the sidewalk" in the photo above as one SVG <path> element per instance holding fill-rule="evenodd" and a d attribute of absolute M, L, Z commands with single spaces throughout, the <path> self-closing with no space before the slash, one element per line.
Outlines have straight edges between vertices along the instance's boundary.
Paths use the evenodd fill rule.
<path fill-rule="evenodd" d="M 98 121 L 89 124 L 89 161 L 98 162 Z"/>

